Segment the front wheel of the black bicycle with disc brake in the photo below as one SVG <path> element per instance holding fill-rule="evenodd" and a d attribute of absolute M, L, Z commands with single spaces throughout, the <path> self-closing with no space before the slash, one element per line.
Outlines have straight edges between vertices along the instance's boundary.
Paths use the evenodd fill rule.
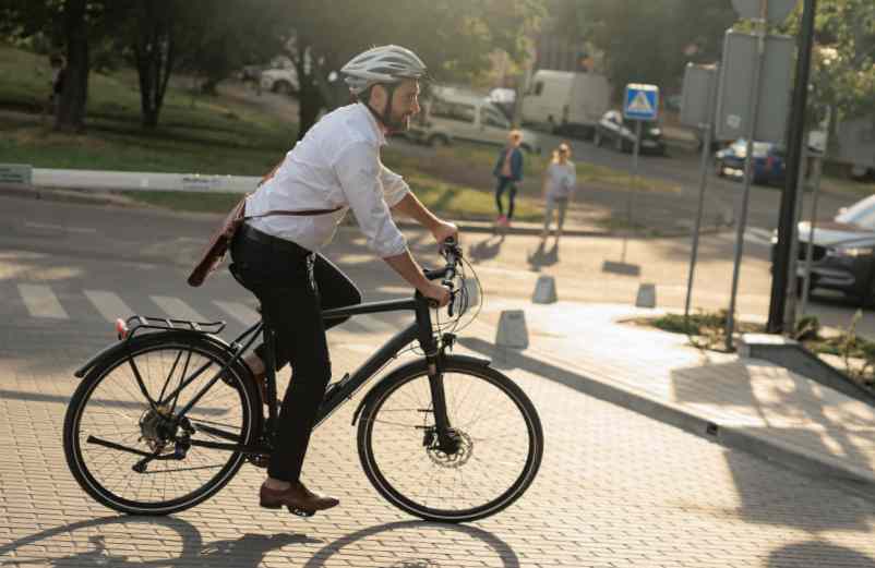
<path fill-rule="evenodd" d="M 403 367 L 369 395 L 359 457 L 377 492 L 425 520 L 467 522 L 494 515 L 528 488 L 543 454 L 538 413 L 502 373 L 446 356 L 443 386 L 456 451 L 436 444 L 424 363 Z"/>

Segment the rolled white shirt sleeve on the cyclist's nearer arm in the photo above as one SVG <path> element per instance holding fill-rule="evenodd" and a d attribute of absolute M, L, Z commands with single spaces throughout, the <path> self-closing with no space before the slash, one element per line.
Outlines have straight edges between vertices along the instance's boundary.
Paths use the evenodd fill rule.
<path fill-rule="evenodd" d="M 407 241 L 392 219 L 387 201 L 393 205 L 400 201 L 407 183 L 380 164 L 377 148 L 364 141 L 353 142 L 337 156 L 334 169 L 368 246 L 381 258 L 406 251 Z M 384 178 L 391 188 L 384 186 Z"/>

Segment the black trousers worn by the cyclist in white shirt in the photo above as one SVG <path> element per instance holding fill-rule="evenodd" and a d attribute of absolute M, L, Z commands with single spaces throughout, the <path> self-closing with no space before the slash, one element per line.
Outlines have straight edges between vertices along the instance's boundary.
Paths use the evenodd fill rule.
<path fill-rule="evenodd" d="M 259 237 L 253 240 L 250 235 Z M 262 317 L 276 336 L 276 368 L 290 363 L 293 376 L 283 398 L 267 473 L 297 481 L 325 387 L 331 359 L 322 310 L 361 302 L 352 281 L 325 257 L 283 239 L 244 227 L 231 245 L 231 270 L 261 302 Z M 255 352 L 264 360 L 264 345 Z"/>

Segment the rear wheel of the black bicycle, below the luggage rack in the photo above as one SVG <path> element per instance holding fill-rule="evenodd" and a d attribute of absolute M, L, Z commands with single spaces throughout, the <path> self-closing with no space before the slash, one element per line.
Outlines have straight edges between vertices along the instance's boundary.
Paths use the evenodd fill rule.
<path fill-rule="evenodd" d="M 128 348 L 92 368 L 73 395 L 64 419 L 68 466 L 85 492 L 118 511 L 188 509 L 218 492 L 244 458 L 191 443 L 251 443 L 260 420 L 254 384 L 245 366 L 236 364 L 173 425 L 230 353 L 205 337 L 177 331 L 135 337 Z"/>

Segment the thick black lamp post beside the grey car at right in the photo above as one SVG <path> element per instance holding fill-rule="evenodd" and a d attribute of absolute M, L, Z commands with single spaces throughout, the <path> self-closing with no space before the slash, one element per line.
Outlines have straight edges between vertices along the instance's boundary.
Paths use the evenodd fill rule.
<path fill-rule="evenodd" d="M 772 258 L 771 298 L 767 330 L 780 333 L 783 326 L 786 307 L 788 261 L 792 234 L 793 213 L 795 210 L 795 188 L 798 165 L 802 150 L 802 132 L 805 122 L 805 105 L 808 96 L 808 74 L 811 70 L 812 45 L 814 44 L 814 13 L 816 0 L 804 0 L 800 31 L 799 58 L 796 60 L 796 84 L 793 93 L 793 109 L 790 114 L 790 137 L 788 140 L 787 183 L 781 192 L 781 209 L 778 217 L 778 243 Z"/>

